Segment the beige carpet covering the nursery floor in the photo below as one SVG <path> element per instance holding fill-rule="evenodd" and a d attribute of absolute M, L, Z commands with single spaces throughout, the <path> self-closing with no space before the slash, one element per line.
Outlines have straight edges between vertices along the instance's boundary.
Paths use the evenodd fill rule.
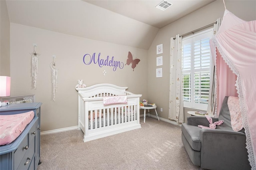
<path fill-rule="evenodd" d="M 82 130 L 41 136 L 38 170 L 197 170 L 181 127 L 146 117 L 136 130 L 83 142 Z"/>

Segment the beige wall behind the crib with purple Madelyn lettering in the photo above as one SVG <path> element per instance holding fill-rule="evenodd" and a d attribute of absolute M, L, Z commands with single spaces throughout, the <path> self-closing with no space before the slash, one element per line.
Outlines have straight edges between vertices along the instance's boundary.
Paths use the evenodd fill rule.
<path fill-rule="evenodd" d="M 48 30 L 11 23 L 11 93 L 17 95 L 36 95 L 36 101 L 42 102 L 42 132 L 78 125 L 78 94 L 75 90 L 78 79 L 87 86 L 97 83 L 112 83 L 128 87 L 128 91 L 142 94 L 147 98 L 147 50 L 100 42 L 77 36 L 70 36 Z M 38 57 L 37 88 L 32 85 L 32 62 L 30 53 L 36 43 Z M 128 51 L 134 58 L 140 59 L 137 67 L 124 65 L 123 69 L 96 64 L 85 65 L 86 53 L 100 58 L 114 56 L 116 61 L 126 64 Z M 50 63 L 56 55 L 58 69 L 58 89 L 56 101 L 52 101 L 52 83 Z M 102 71 L 106 70 L 104 76 Z"/>

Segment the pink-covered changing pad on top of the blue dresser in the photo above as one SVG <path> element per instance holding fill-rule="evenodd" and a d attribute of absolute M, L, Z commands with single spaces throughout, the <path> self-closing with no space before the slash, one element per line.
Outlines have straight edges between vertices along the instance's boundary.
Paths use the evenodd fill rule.
<path fill-rule="evenodd" d="M 34 111 L 15 115 L 0 115 L 0 145 L 10 144 L 34 118 Z"/>

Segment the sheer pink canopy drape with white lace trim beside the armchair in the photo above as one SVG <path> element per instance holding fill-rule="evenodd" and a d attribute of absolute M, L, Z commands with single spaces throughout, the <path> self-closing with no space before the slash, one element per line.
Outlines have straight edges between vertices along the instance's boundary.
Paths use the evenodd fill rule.
<path fill-rule="evenodd" d="M 219 71 L 217 82 L 223 78 L 222 71 L 226 71 L 223 66 L 225 64 L 220 57 L 223 57 L 237 76 L 236 89 L 246 133 L 248 160 L 252 169 L 256 169 L 256 20 L 247 22 L 225 10 L 222 24 L 212 38 L 212 42 L 211 48 L 216 50 L 217 74 Z M 233 78 L 229 76 L 226 78 L 231 78 L 230 81 L 232 82 L 234 75 Z M 226 87 L 226 84 L 217 83 L 217 110 L 220 108 L 218 105 L 221 105 L 220 101 L 222 102 L 225 95 L 232 95 L 235 92 L 231 90 L 232 88 L 235 89 L 234 85 Z M 231 93 L 224 93 L 223 91 L 226 91 L 223 90 L 224 88 Z"/>

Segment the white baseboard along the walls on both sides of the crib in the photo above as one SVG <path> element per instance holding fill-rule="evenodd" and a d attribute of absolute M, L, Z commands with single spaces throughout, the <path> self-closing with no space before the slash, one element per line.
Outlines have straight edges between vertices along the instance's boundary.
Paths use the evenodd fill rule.
<path fill-rule="evenodd" d="M 148 116 L 148 113 L 146 114 L 146 116 Z M 140 117 L 144 117 L 144 115 L 140 115 Z M 150 115 L 150 117 L 153 117 L 153 118 L 157 119 L 156 115 Z M 171 123 L 173 125 L 181 126 L 181 124 L 178 124 L 178 123 L 176 123 L 174 121 L 171 121 L 171 120 L 168 120 L 168 119 L 164 119 L 162 117 L 159 117 L 159 120 Z M 40 135 L 52 134 L 52 133 L 58 133 L 58 132 L 64 132 L 64 131 L 68 131 L 68 130 L 76 130 L 76 129 L 78 129 L 78 126 L 67 127 L 67 128 L 59 128 L 59 129 L 55 129 L 55 130 L 48 130 L 48 131 L 41 132 Z"/>

